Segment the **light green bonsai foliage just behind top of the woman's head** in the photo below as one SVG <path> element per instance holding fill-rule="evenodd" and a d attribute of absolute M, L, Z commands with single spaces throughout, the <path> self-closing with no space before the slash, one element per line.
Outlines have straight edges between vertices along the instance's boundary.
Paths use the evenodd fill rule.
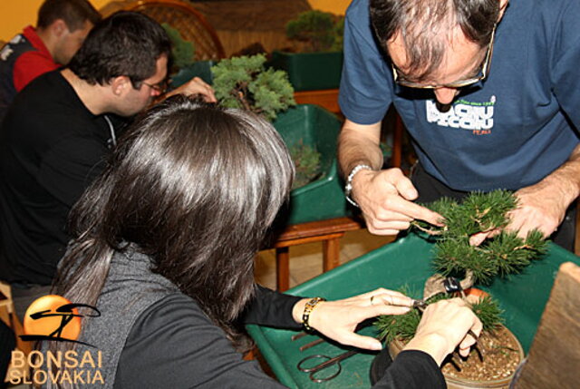
<path fill-rule="evenodd" d="M 282 70 L 265 69 L 266 56 L 225 59 L 211 68 L 216 98 L 227 108 L 246 109 L 273 121 L 295 105 L 294 88 Z"/>

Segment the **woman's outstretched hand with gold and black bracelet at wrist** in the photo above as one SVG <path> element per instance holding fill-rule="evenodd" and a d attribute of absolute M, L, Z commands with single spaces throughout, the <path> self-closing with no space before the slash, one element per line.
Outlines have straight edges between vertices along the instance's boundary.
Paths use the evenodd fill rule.
<path fill-rule="evenodd" d="M 297 302 L 292 314 L 302 323 L 304 306 L 309 298 Z M 314 307 L 309 325 L 324 336 L 343 344 L 368 350 L 381 350 L 379 340 L 354 332 L 362 321 L 380 315 L 402 315 L 409 312 L 413 299 L 399 292 L 379 288 L 363 295 L 336 301 L 323 301 Z"/>

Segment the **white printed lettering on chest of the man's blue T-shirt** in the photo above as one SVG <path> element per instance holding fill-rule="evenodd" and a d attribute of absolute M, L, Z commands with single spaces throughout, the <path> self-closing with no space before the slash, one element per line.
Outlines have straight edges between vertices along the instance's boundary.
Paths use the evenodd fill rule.
<path fill-rule="evenodd" d="M 437 123 L 440 127 L 473 131 L 474 135 L 488 135 L 493 128 L 493 113 L 496 96 L 489 102 L 468 102 L 459 99 L 448 112 L 440 112 L 433 100 L 426 103 L 427 122 Z"/>

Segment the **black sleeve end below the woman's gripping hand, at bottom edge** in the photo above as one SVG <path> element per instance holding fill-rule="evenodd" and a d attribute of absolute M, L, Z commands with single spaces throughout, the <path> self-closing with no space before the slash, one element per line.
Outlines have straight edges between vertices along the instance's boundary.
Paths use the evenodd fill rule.
<path fill-rule="evenodd" d="M 373 388 L 445 389 L 445 379 L 435 360 L 419 350 L 401 351 Z"/>

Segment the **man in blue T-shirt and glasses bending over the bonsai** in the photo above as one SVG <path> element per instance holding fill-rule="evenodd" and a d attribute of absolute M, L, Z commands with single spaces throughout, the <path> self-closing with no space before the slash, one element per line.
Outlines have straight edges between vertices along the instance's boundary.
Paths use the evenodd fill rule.
<path fill-rule="evenodd" d="M 415 201 L 506 189 L 519 199 L 507 229 L 540 229 L 573 250 L 578 17 L 575 0 L 353 1 L 339 160 L 347 199 L 371 232 L 396 234 L 413 219 L 440 223 Z M 381 170 L 381 121 L 391 104 L 419 157 L 411 180 Z"/>

